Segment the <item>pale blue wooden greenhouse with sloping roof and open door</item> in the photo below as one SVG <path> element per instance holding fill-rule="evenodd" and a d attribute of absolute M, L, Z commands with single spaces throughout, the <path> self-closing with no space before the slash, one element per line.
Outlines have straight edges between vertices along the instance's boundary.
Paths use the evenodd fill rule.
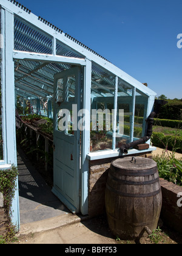
<path fill-rule="evenodd" d="M 93 165 L 155 149 L 147 141 L 144 149 L 120 151 L 145 136 L 156 93 L 18 2 L 0 4 L 0 168 L 17 165 L 18 130 L 35 144 L 41 135 L 52 154 L 53 193 L 72 213 L 87 215 Z M 18 191 L 13 210 L 19 226 Z"/>

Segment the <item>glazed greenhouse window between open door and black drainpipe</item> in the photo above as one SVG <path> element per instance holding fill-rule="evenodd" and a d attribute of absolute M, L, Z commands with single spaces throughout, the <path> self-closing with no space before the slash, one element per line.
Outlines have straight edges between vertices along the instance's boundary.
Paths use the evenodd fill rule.
<path fill-rule="evenodd" d="M 117 91 L 115 97 L 116 77 L 93 64 L 90 152 L 119 149 L 144 136 L 147 97 L 120 77 Z"/>

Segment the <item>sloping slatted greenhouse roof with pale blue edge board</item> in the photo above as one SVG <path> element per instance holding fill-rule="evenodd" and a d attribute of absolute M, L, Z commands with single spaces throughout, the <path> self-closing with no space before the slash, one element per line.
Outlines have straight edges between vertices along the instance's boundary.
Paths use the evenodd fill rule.
<path fill-rule="evenodd" d="M 0 0 L 0 4 L 2 9 L 14 13 L 15 88 L 20 96 L 52 98 L 54 75 L 70 69 L 72 60 L 83 63 L 86 59 L 92 61 L 94 96 L 112 96 L 116 76 L 121 96 L 129 96 L 131 88 L 147 97 L 156 95 L 89 47 L 44 18 L 33 15 L 24 5 L 13 0 Z M 58 56 L 65 60 L 54 61 Z"/>

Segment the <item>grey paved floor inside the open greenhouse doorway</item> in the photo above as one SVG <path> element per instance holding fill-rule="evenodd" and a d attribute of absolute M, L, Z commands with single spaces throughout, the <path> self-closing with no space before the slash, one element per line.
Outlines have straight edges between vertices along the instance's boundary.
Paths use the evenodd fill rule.
<path fill-rule="evenodd" d="M 68 215 L 70 211 L 52 193 L 49 185 L 19 147 L 17 156 L 20 224 Z"/>

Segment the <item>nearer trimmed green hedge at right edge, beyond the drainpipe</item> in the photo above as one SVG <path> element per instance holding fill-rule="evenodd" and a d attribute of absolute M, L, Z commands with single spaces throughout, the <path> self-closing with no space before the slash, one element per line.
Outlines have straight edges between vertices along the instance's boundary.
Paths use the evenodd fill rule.
<path fill-rule="evenodd" d="M 170 151 L 174 150 L 176 152 L 182 153 L 182 137 L 164 135 L 161 132 L 153 132 L 151 139 L 153 146 L 158 148 L 167 148 Z"/>

